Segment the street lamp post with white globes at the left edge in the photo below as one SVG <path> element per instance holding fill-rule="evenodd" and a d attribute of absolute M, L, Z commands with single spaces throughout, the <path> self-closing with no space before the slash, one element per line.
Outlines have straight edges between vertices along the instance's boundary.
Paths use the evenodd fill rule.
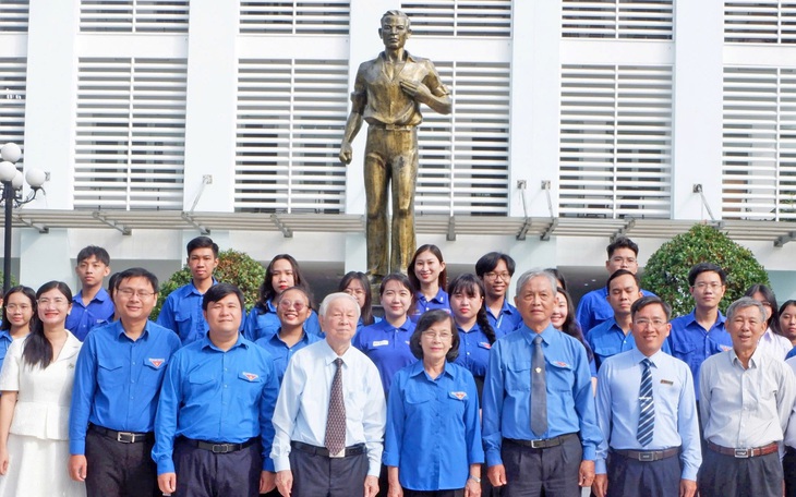
<path fill-rule="evenodd" d="M 47 181 L 47 173 L 37 168 L 28 168 L 24 180 L 31 185 L 31 193 L 22 197 L 22 185 L 24 183 L 22 172 L 16 169 L 16 161 L 22 157 L 22 150 L 14 143 L 7 143 L 0 148 L 0 182 L 3 185 L 2 203 L 4 211 L 3 231 L 3 295 L 11 288 L 11 221 L 13 208 L 27 204 L 36 198 L 41 185 Z"/>

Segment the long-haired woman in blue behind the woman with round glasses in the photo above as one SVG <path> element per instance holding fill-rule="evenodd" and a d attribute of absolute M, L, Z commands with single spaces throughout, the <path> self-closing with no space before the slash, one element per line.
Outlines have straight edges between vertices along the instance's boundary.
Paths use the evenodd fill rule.
<path fill-rule="evenodd" d="M 265 269 L 265 279 L 260 286 L 260 298 L 246 317 L 243 336 L 251 341 L 270 337 L 279 329 L 279 317 L 276 315 L 275 299 L 291 287 L 306 288 L 299 263 L 288 254 L 275 256 Z M 312 311 L 304 324 L 307 332 L 321 336 L 317 314 Z"/>

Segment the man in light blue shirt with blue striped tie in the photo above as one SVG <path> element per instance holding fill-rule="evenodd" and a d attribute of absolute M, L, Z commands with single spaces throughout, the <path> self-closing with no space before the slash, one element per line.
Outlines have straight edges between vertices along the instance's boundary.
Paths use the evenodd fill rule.
<path fill-rule="evenodd" d="M 692 497 L 702 462 L 694 377 L 662 347 L 672 308 L 656 296 L 630 307 L 636 347 L 607 357 L 598 376 L 596 497 Z"/>

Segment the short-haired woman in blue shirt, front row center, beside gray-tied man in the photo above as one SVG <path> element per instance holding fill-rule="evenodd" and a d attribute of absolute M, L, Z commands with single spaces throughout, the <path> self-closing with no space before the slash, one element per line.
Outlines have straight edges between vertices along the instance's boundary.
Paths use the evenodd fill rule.
<path fill-rule="evenodd" d="M 470 372 L 453 363 L 456 324 L 444 311 L 429 311 L 410 342 L 420 361 L 396 374 L 387 399 L 387 495 L 480 496 L 479 401 Z"/>

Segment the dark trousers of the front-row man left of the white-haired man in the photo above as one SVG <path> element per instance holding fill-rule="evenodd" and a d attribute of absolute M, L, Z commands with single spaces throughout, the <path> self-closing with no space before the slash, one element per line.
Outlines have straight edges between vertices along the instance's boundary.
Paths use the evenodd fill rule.
<path fill-rule="evenodd" d="M 257 497 L 263 457 L 260 443 L 229 453 L 174 441 L 177 492 L 174 497 Z"/>

